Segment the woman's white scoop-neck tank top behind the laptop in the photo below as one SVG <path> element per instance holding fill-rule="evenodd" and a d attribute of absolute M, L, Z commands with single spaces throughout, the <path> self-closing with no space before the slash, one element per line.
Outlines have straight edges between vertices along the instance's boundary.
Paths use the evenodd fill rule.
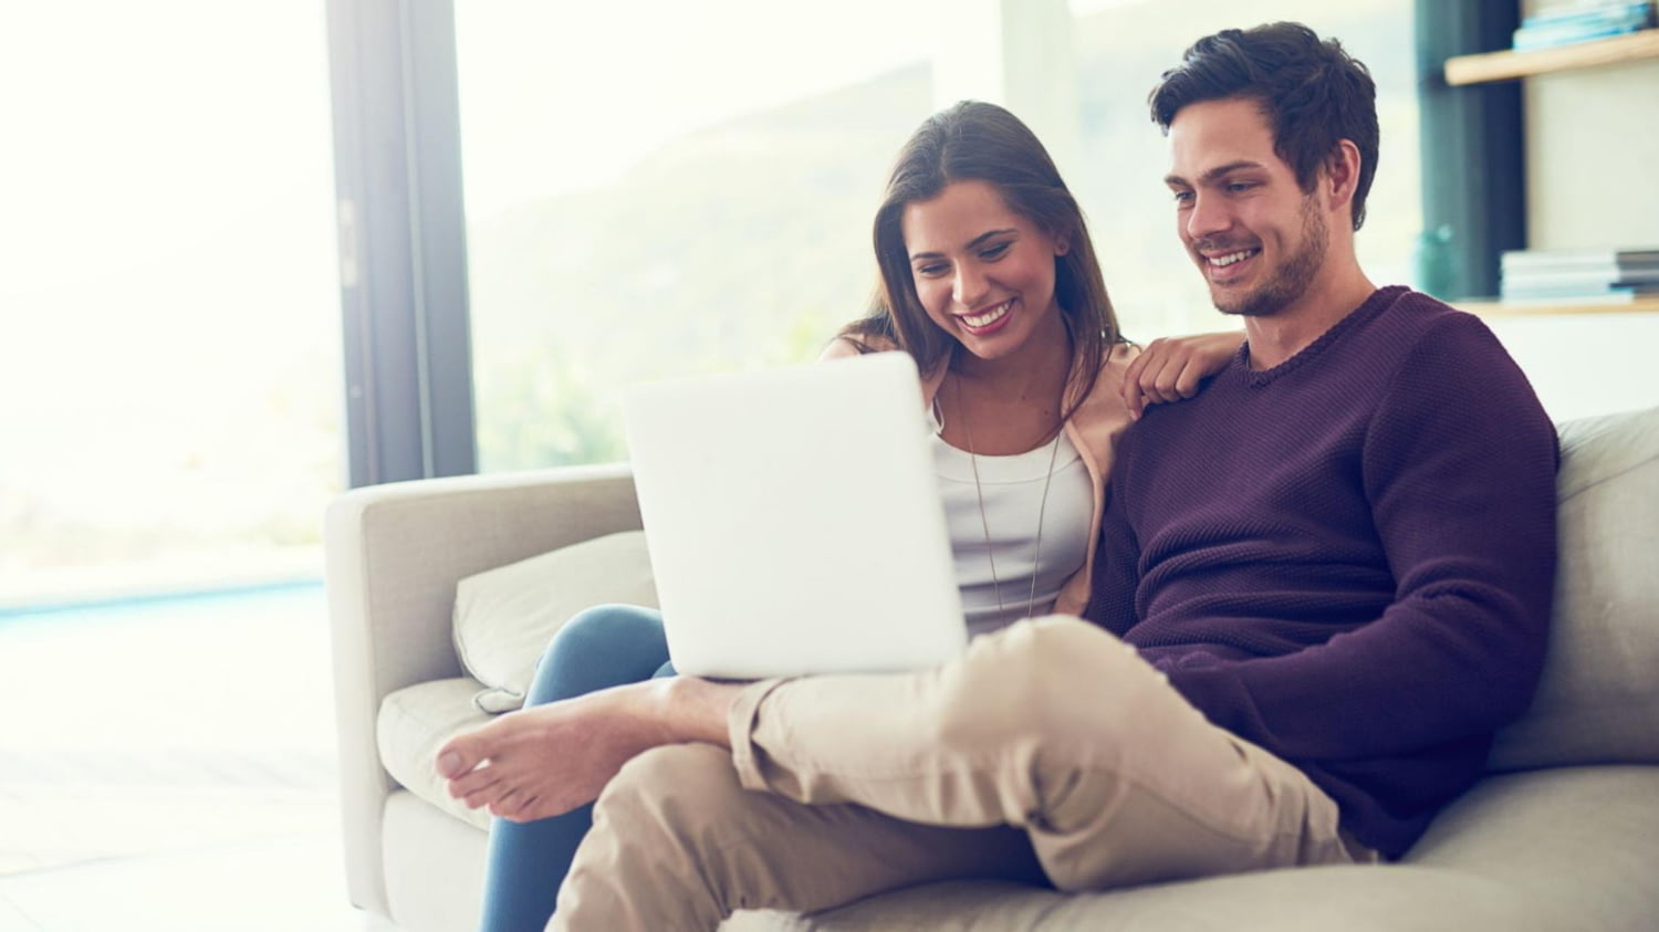
<path fill-rule="evenodd" d="M 1058 449 L 1053 443 L 1058 443 Z M 971 456 L 937 434 L 931 436 L 929 444 L 946 522 L 951 527 L 951 551 L 956 554 L 956 580 L 962 590 L 969 637 L 1048 614 L 1055 597 L 1060 595 L 1060 587 L 1083 569 L 1083 561 L 1088 557 L 1093 483 L 1072 439 L 1060 431 L 1057 441 L 1014 456 Z M 1050 463 L 1053 463 L 1052 479 Z M 1047 502 L 1044 502 L 1045 483 Z M 985 507 L 984 519 L 980 498 Z M 1040 556 L 1037 554 L 1039 511 L 1042 512 Z"/>

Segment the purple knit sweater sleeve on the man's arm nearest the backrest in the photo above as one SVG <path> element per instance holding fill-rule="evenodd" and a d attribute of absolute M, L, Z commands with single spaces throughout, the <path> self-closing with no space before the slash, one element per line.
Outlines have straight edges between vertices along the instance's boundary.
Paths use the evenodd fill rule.
<path fill-rule="evenodd" d="M 1397 370 L 1362 444 L 1395 579 L 1382 617 L 1269 658 L 1183 657 L 1216 725 L 1302 760 L 1478 738 L 1525 711 L 1554 582 L 1556 434 L 1480 320 L 1447 315 Z"/>

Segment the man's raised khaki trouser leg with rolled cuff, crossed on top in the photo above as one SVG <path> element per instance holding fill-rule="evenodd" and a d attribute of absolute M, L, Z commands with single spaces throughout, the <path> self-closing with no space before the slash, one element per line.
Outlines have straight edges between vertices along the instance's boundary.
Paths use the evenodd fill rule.
<path fill-rule="evenodd" d="M 1352 859 L 1304 773 L 1078 619 L 1019 622 L 929 673 L 757 685 L 730 726 L 743 786 L 1020 828 L 1063 891 Z"/>

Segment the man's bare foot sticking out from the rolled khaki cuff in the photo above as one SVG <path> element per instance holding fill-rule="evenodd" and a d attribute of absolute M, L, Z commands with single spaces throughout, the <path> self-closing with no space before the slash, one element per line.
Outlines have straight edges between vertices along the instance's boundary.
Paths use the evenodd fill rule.
<path fill-rule="evenodd" d="M 654 700 L 664 683 L 630 683 L 509 711 L 438 750 L 450 796 L 528 823 L 592 803 L 634 755 L 670 743 Z"/>

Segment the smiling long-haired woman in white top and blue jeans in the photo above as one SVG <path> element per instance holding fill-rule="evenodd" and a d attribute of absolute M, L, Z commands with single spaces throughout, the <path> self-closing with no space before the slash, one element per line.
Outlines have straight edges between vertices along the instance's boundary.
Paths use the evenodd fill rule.
<path fill-rule="evenodd" d="M 1191 396 L 1239 333 L 1121 338 L 1077 201 L 1009 111 L 966 101 L 899 153 L 876 212 L 881 300 L 825 352 L 911 353 L 971 633 L 1088 602 L 1112 444 Z M 657 612 L 602 605 L 549 645 L 526 705 L 672 673 Z M 542 929 L 591 806 L 496 819 L 483 929 Z"/>

